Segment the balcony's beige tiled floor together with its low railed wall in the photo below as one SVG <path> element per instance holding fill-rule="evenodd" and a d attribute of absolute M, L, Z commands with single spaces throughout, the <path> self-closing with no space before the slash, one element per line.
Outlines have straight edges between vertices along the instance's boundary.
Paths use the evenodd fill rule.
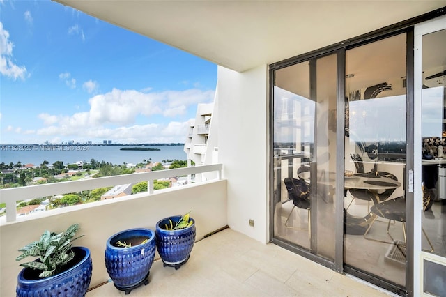
<path fill-rule="evenodd" d="M 1 190 L 0 201 L 6 202 L 8 209 L 15 210 L 17 199 L 78 192 L 116 183 L 148 181 L 153 185 L 153 180 L 159 178 L 217 172 L 215 180 L 193 185 L 157 191 L 149 186 L 148 192 L 128 197 L 20 217 L 15 216 L 15 211 L 8 211 L 9 217 L 0 221 L 0 268 L 8 271 L 1 275 L 0 295 L 14 295 L 17 274 L 21 270 L 15 261 L 18 248 L 36 240 L 45 229 L 61 231 L 79 222 L 79 235 L 85 236 L 75 245 L 89 248 L 93 260 L 93 276 L 86 296 L 122 296 L 123 291 L 118 291 L 109 281 L 105 269 L 107 238 L 134 227 L 155 230 L 161 218 L 192 210 L 191 216 L 197 221 L 197 243 L 191 259 L 175 271 L 164 268 L 156 255 L 150 284 L 134 289 L 132 296 L 176 296 L 178 290 L 186 296 L 295 296 L 302 293 L 309 296 L 387 296 L 277 245 L 265 245 L 226 228 L 227 181 L 220 178 L 221 170 L 222 165 L 217 164 Z"/>

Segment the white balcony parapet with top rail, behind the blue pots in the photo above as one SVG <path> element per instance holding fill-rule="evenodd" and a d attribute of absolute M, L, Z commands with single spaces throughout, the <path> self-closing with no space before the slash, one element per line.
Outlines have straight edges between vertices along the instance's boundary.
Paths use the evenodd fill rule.
<path fill-rule="evenodd" d="M 90 287 L 109 281 L 104 263 L 105 243 L 109 236 L 118 231 L 136 227 L 155 230 L 156 223 L 162 218 L 192 211 L 191 216 L 197 222 L 196 240 L 213 234 L 228 224 L 227 182 L 220 178 L 221 170 L 221 164 L 204 165 L 0 190 L 0 201 L 6 202 L 6 213 L 11 217 L 9 222 L 6 222 L 4 217 L 0 220 L 0 271 L 8 271 L 2 273 L 0 278 L 0 296 L 15 296 L 17 274 L 22 269 L 20 263 L 15 261 L 15 257 L 20 254 L 17 250 L 38 240 L 45 230 L 60 232 L 71 224 L 79 223 L 81 227 L 79 235 L 84 236 L 79 238 L 75 245 L 89 248 L 93 259 Z M 134 195 L 40 211 L 15 218 L 17 200 L 139 181 L 153 184 L 155 179 L 187 174 L 197 176 L 206 172 L 217 172 L 217 177 L 201 183 L 156 191 L 148 190 Z"/>

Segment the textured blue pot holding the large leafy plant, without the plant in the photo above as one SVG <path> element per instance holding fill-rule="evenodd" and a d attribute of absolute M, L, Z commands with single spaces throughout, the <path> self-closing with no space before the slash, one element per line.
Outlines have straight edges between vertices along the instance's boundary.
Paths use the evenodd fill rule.
<path fill-rule="evenodd" d="M 85 296 L 93 270 L 90 250 L 83 247 L 72 247 L 72 250 L 75 259 L 58 275 L 40 278 L 41 271 L 23 268 L 17 276 L 16 296 Z"/>

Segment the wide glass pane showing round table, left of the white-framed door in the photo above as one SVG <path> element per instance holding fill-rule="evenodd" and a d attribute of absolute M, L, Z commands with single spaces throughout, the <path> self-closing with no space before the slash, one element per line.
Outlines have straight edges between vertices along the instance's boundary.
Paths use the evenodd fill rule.
<path fill-rule="evenodd" d="M 346 51 L 344 263 L 406 285 L 406 34 Z"/>

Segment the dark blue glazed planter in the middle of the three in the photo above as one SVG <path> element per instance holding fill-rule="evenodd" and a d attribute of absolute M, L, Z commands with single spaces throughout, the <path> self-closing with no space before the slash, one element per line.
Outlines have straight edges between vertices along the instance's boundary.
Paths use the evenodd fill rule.
<path fill-rule="evenodd" d="M 146 243 L 141 243 L 147 238 Z M 117 241 L 132 243 L 130 248 L 116 245 Z M 141 284 L 148 284 L 148 274 L 155 257 L 155 233 L 151 229 L 136 228 L 121 231 L 107 240 L 105 267 L 114 286 L 129 294 Z"/>

